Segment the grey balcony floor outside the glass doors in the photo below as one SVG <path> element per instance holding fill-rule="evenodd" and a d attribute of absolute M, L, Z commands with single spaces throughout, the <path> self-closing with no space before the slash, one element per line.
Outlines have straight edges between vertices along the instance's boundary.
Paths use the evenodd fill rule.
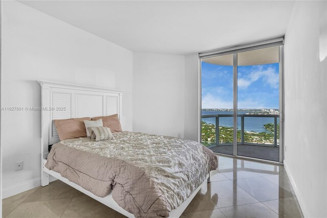
<path fill-rule="evenodd" d="M 219 145 L 210 149 L 216 153 L 233 155 L 232 145 Z M 270 161 L 279 161 L 279 147 L 238 145 L 238 155 Z"/>

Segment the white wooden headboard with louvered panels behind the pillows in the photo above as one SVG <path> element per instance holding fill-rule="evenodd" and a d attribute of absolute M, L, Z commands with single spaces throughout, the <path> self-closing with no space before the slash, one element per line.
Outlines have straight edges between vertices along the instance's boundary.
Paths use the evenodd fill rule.
<path fill-rule="evenodd" d="M 41 154 L 59 142 L 55 119 L 118 114 L 122 118 L 122 91 L 85 85 L 38 81 L 41 85 Z"/>

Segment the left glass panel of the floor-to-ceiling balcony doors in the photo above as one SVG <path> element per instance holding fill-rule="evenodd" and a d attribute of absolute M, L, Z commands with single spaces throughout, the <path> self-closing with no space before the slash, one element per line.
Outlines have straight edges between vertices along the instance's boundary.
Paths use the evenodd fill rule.
<path fill-rule="evenodd" d="M 232 63 L 232 54 L 207 58 L 201 63 L 201 142 L 227 155 L 233 155 Z"/>

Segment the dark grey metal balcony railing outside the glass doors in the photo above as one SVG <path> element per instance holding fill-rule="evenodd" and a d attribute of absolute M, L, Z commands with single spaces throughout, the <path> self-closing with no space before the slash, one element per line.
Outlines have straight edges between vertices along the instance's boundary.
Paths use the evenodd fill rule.
<path fill-rule="evenodd" d="M 238 114 L 238 117 L 241 118 L 241 142 L 238 142 L 238 144 L 241 145 L 263 145 L 263 146 L 274 146 L 277 147 L 277 118 L 279 118 L 279 115 L 272 115 L 272 114 Z M 232 145 L 232 143 L 219 143 L 219 118 L 220 117 L 233 117 L 232 114 L 208 114 L 208 115 L 202 115 L 201 118 L 216 118 L 216 125 L 215 125 L 215 135 L 216 135 L 216 143 L 211 144 L 207 147 L 215 147 L 218 145 Z M 251 142 L 245 142 L 244 141 L 244 117 L 271 117 L 274 118 L 274 143 L 273 144 L 262 144 L 262 143 L 251 143 Z"/>

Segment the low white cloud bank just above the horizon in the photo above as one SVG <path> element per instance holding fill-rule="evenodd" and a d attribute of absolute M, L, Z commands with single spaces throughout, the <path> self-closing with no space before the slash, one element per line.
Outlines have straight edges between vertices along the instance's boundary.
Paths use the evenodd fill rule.
<path fill-rule="evenodd" d="M 202 108 L 233 108 L 233 100 L 224 100 L 219 96 L 214 96 L 212 94 L 206 94 L 202 97 Z M 257 101 L 251 98 L 247 98 L 241 101 L 238 101 L 238 108 L 246 109 L 261 109 L 266 108 L 261 101 Z"/>

